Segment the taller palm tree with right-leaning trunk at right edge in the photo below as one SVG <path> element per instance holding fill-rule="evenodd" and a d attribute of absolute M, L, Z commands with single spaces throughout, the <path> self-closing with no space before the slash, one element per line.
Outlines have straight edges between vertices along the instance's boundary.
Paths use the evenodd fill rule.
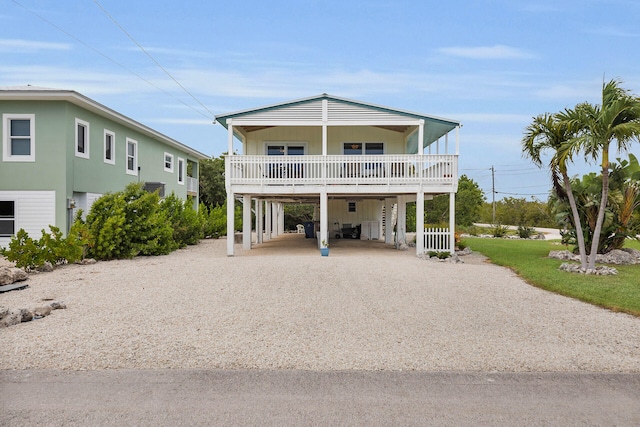
<path fill-rule="evenodd" d="M 567 110 L 564 119 L 569 129 L 577 134 L 567 151 L 581 150 L 587 158 L 597 160 L 600 157 L 601 160 L 602 195 L 587 265 L 587 272 L 591 272 L 595 269 L 607 207 L 609 146 L 615 141 L 618 152 L 627 152 L 634 141 L 640 140 L 640 98 L 622 89 L 619 81 L 611 80 L 602 85 L 602 105 L 579 104 L 574 110 Z"/>

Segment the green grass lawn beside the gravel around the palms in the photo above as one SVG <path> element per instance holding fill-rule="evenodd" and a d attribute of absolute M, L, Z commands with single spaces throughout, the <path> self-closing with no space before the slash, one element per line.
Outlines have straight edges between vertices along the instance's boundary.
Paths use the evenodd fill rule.
<path fill-rule="evenodd" d="M 462 241 L 491 262 L 509 267 L 533 286 L 571 298 L 640 316 L 640 265 L 614 266 L 617 276 L 587 276 L 558 270 L 564 261 L 547 258 L 549 251 L 563 250 L 558 242 L 465 238 Z M 640 242 L 628 247 L 640 250 Z"/>

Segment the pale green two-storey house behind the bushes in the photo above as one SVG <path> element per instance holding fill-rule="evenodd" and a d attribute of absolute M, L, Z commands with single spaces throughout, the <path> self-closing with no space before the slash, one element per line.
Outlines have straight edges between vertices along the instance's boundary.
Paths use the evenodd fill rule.
<path fill-rule="evenodd" d="M 24 228 L 66 233 L 106 192 L 144 182 L 198 202 L 207 156 L 72 90 L 0 87 L 0 245 Z"/>

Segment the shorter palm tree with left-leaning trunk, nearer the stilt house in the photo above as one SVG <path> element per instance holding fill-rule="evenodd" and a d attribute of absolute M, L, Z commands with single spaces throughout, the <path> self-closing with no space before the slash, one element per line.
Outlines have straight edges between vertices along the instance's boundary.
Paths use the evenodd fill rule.
<path fill-rule="evenodd" d="M 580 267 L 587 268 L 587 254 L 582 234 L 582 225 L 576 200 L 571 190 L 571 179 L 567 172 L 567 162 L 571 161 L 572 151 L 569 141 L 574 135 L 570 132 L 566 123 L 560 120 L 558 114 L 542 114 L 533 119 L 533 122 L 525 129 L 522 138 L 522 152 L 529 157 L 534 164 L 542 167 L 542 153 L 548 150 L 554 152 L 549 163 L 551 181 L 556 195 L 560 199 L 569 199 L 573 222 L 576 227 L 576 239 L 580 254 Z M 562 182 L 560 180 L 562 178 Z"/>

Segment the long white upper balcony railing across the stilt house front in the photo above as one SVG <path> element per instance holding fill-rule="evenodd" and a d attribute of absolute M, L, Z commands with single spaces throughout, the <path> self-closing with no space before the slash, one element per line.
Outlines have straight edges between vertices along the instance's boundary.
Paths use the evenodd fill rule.
<path fill-rule="evenodd" d="M 230 184 L 454 184 L 455 154 L 227 156 Z"/>

